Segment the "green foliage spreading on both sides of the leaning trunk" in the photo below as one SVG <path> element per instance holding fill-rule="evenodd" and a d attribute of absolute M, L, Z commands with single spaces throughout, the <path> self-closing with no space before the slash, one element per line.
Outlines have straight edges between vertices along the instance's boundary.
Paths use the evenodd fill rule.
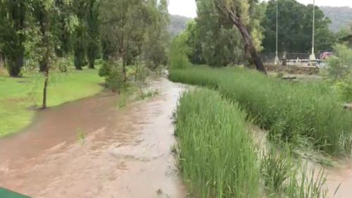
<path fill-rule="evenodd" d="M 197 18 L 187 25 L 187 45 L 190 48 L 191 63 L 220 67 L 230 64 L 242 64 L 249 56 L 243 35 L 227 13 L 219 11 L 218 7 L 234 6 L 232 10 L 239 11 L 246 31 L 251 35 L 253 48 L 258 51 L 263 39 L 263 28 L 260 20 L 263 17 L 263 6 L 258 1 L 197 1 Z M 242 26 L 243 27 L 243 26 Z M 249 38 L 246 38 L 248 40 Z"/>

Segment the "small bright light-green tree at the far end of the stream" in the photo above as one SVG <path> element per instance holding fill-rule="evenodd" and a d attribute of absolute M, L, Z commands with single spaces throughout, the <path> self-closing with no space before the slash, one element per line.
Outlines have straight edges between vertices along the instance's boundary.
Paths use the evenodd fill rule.
<path fill-rule="evenodd" d="M 188 54 L 191 49 L 187 45 L 187 33 L 182 33 L 172 39 L 170 54 L 169 54 L 169 68 L 187 68 L 190 66 Z"/>

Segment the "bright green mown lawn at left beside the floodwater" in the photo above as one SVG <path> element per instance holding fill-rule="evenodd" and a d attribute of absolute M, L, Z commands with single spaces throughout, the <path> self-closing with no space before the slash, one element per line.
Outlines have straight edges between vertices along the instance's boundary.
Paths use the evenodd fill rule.
<path fill-rule="evenodd" d="M 97 69 L 53 74 L 47 104 L 49 107 L 58 106 L 92 96 L 103 89 L 101 83 L 103 78 L 99 77 Z M 0 75 L 0 137 L 18 132 L 31 123 L 36 111 L 30 107 L 41 106 L 43 84 L 42 75 L 25 75 L 24 78 Z"/>

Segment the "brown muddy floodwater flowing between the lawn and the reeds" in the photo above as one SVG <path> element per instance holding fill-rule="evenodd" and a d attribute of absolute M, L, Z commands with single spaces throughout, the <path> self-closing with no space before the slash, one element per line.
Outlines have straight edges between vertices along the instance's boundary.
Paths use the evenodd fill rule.
<path fill-rule="evenodd" d="M 106 92 L 40 112 L 0 140 L 0 186 L 31 197 L 186 197 L 170 152 L 184 88 L 164 78 L 152 87 L 161 94 L 121 110 Z"/>

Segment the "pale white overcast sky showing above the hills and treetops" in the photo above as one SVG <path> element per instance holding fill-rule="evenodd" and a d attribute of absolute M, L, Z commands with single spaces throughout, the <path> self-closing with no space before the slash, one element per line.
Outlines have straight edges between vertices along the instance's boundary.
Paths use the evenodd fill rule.
<path fill-rule="evenodd" d="M 303 4 L 313 4 L 313 0 L 298 0 Z M 315 0 L 318 6 L 350 6 L 352 0 Z M 196 17 L 196 1 L 194 0 L 169 0 L 169 12 L 173 15 Z"/>

